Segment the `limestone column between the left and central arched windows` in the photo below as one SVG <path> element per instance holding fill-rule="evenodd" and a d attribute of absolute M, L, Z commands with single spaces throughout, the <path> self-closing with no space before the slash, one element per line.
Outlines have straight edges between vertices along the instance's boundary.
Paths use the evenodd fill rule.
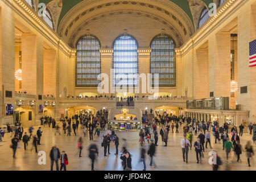
<path fill-rule="evenodd" d="M 100 53 L 101 53 L 101 73 L 105 73 L 106 75 L 109 76 L 109 92 L 106 93 L 107 96 L 111 96 L 111 91 L 112 93 L 115 93 L 115 90 L 111 90 L 110 88 L 113 86 L 113 78 L 114 74 L 111 74 L 112 71 L 112 59 L 113 59 L 113 52 L 114 49 L 112 48 L 101 48 Z M 113 77 L 111 77 L 111 75 Z M 114 87 L 113 87 L 114 88 Z"/>

